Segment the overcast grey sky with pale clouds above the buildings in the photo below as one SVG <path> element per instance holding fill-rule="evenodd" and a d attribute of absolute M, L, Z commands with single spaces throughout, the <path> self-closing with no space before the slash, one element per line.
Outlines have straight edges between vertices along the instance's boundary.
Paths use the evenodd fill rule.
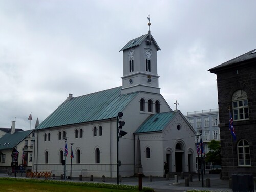
<path fill-rule="evenodd" d="M 151 33 L 160 93 L 175 110 L 218 108 L 208 70 L 256 48 L 256 1 L 0 0 L 0 127 L 31 129 L 72 93 L 122 85 L 122 52 Z"/>

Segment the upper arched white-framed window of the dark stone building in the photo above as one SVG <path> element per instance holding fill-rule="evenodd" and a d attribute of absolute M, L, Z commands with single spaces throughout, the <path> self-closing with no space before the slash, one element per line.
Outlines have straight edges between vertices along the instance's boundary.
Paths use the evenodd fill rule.
<path fill-rule="evenodd" d="M 248 96 L 243 90 L 237 90 L 232 96 L 233 119 L 249 119 Z"/>

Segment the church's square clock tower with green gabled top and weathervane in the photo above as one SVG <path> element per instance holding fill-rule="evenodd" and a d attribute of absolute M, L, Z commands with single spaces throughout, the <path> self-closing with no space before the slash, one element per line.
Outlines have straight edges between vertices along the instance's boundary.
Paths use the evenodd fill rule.
<path fill-rule="evenodd" d="M 150 21 L 149 18 L 147 18 Z M 122 94 L 144 91 L 160 94 L 157 75 L 157 51 L 160 50 L 150 32 L 130 40 L 123 51 Z"/>

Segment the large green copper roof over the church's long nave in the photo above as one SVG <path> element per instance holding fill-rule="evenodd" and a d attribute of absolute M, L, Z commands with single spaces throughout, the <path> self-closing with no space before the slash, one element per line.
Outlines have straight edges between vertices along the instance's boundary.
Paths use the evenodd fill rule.
<path fill-rule="evenodd" d="M 121 95 L 121 88 L 112 88 L 64 101 L 36 129 L 109 119 L 117 116 L 138 94 Z"/>

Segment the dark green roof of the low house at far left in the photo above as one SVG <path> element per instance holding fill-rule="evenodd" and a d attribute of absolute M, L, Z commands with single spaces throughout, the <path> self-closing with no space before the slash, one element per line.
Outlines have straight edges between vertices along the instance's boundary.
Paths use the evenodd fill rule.
<path fill-rule="evenodd" d="M 29 134 L 30 130 L 14 132 L 13 134 L 6 133 L 0 138 L 0 150 L 14 148 L 16 145 L 22 142 Z"/>

